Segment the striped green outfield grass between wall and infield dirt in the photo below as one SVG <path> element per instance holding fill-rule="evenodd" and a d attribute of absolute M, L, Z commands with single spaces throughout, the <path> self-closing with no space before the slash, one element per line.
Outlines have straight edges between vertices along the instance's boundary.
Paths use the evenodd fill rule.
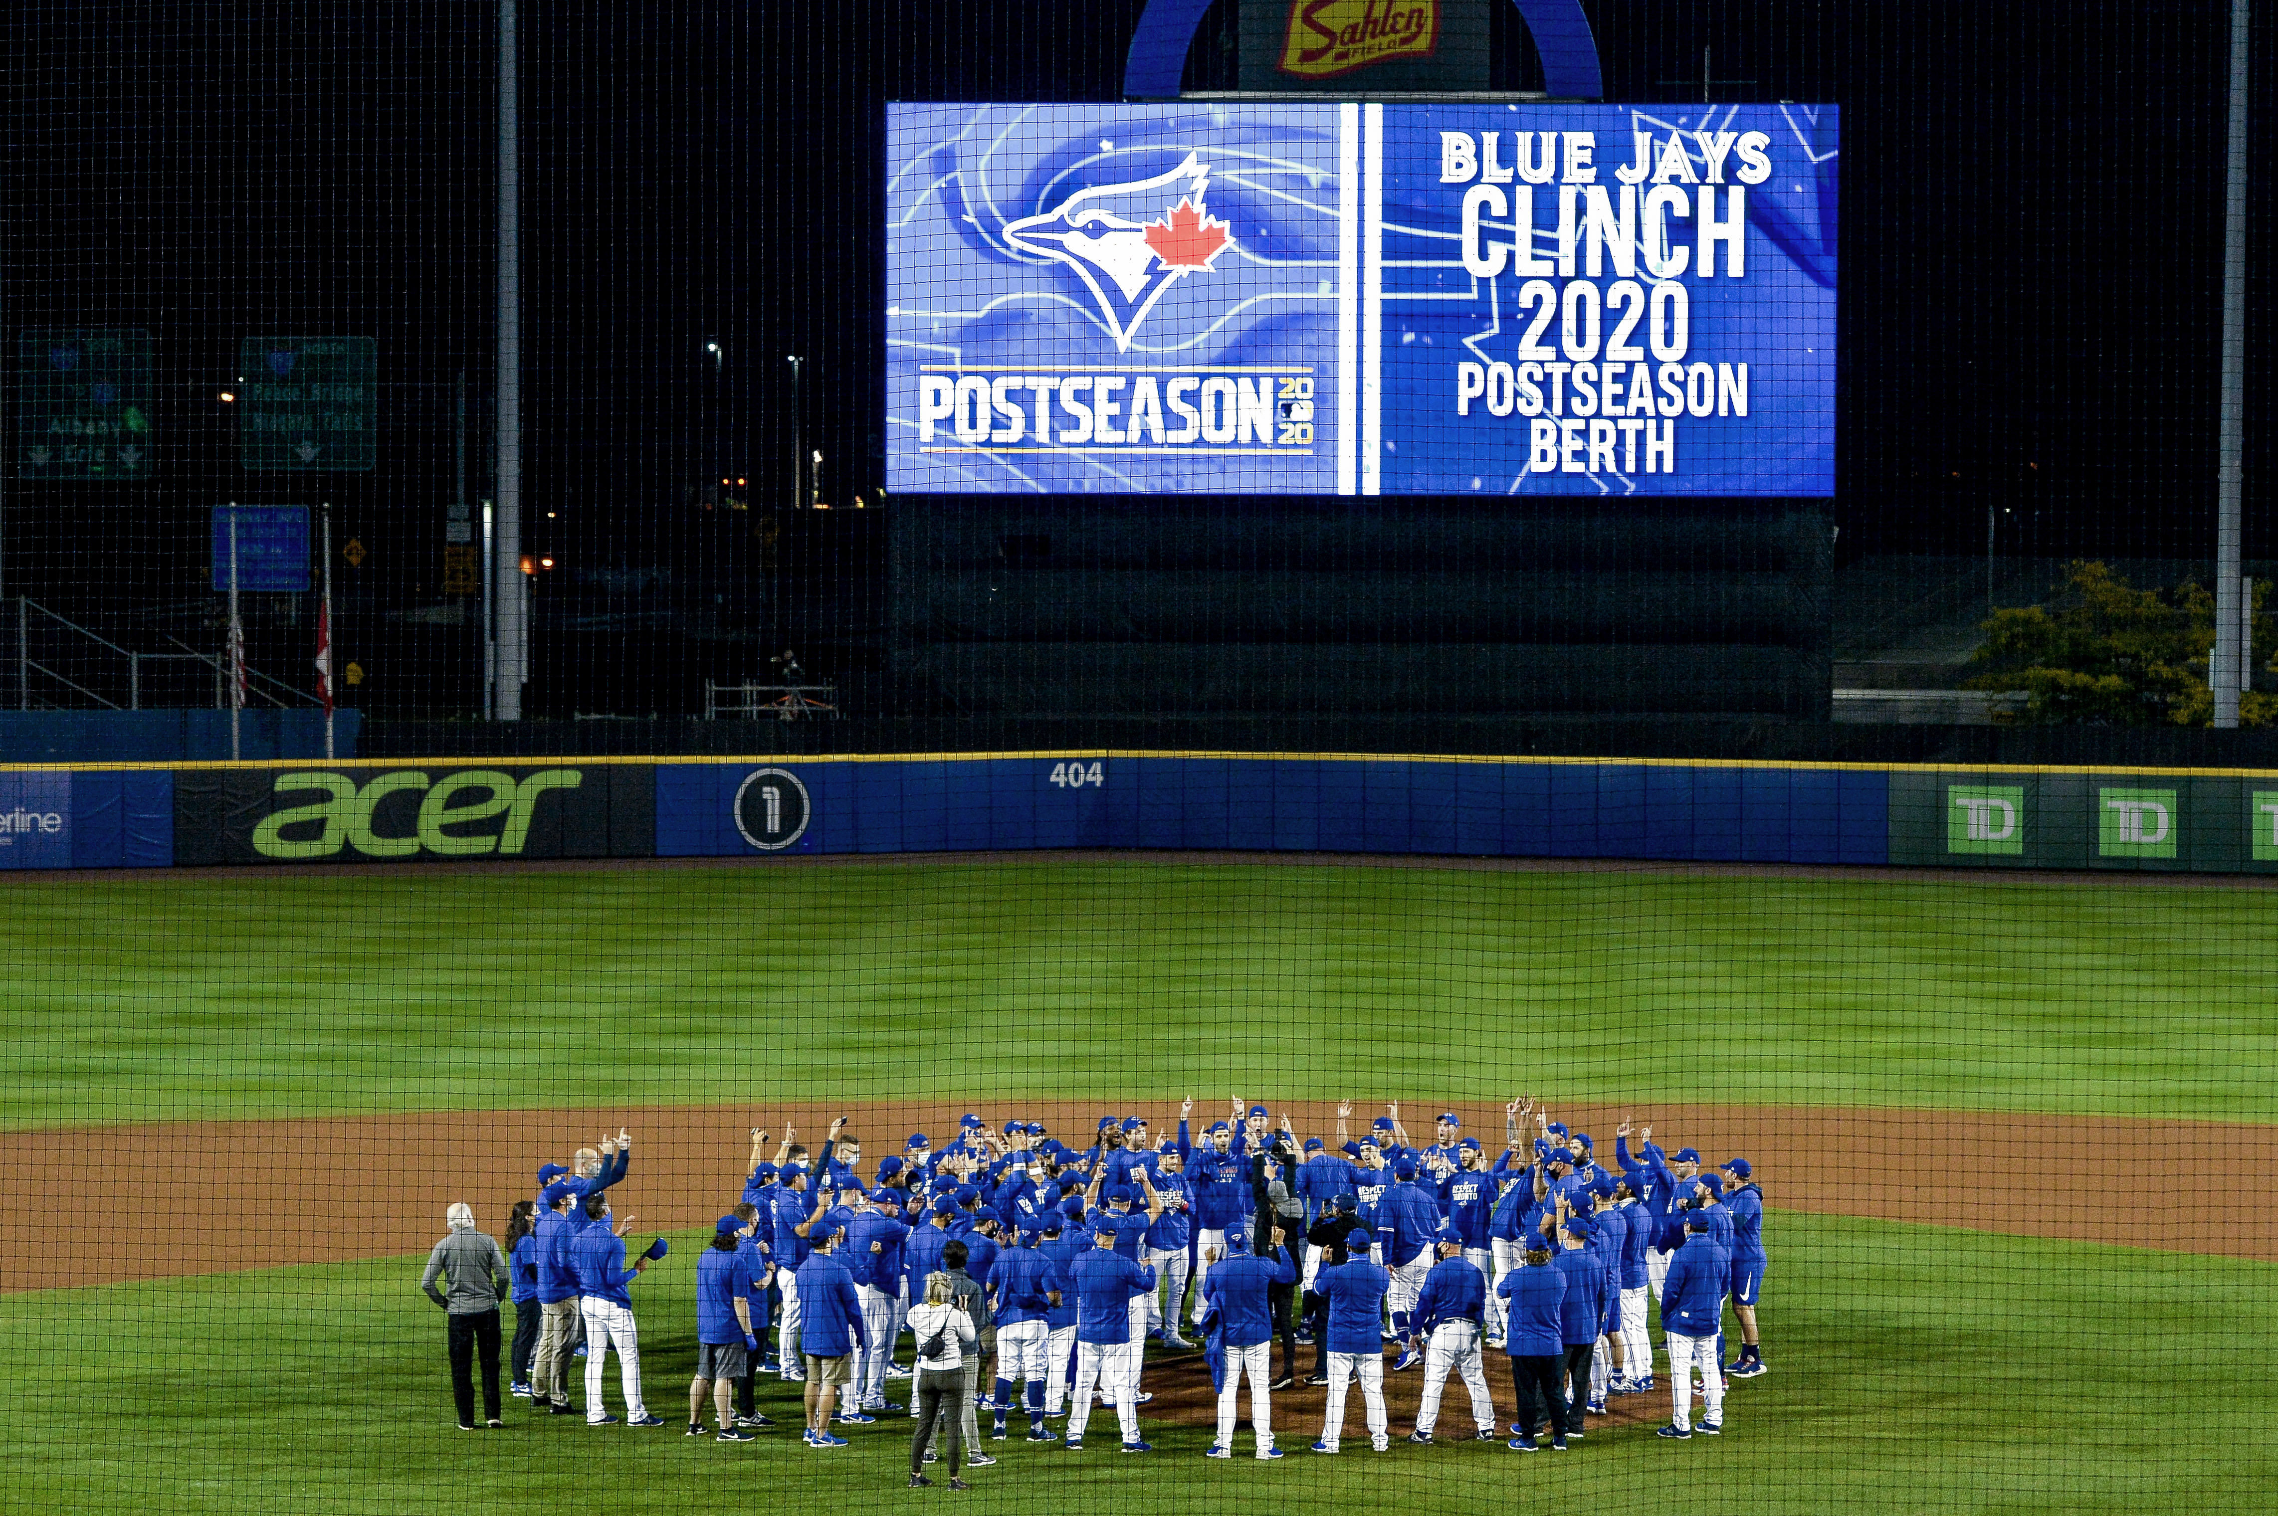
<path fill-rule="evenodd" d="M 2253 885 L 1034 856 L 180 872 L 7 904 L 0 1127 L 1355 1074 L 2278 1120 L 2278 897 Z"/>

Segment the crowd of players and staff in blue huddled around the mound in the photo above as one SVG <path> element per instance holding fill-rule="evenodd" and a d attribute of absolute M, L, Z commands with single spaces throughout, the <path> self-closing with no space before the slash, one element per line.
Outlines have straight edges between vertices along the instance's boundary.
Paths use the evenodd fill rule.
<path fill-rule="evenodd" d="M 1508 1448 L 1565 1450 L 1608 1395 L 1656 1389 L 1649 1295 L 1672 1404 L 1661 1436 L 1722 1432 L 1727 1375 L 1765 1373 L 1763 1197 L 1745 1159 L 1715 1168 L 1690 1147 L 1663 1152 L 1652 1127 L 1633 1147 L 1624 1120 L 1608 1168 L 1588 1134 L 1531 1099 L 1506 1106 L 1492 1156 L 1453 1113 L 1440 1115 L 1431 1145 L 1412 1147 L 1396 1104 L 1360 1131 L 1342 1106 L 1333 1138 L 1298 1138 L 1267 1106 L 1232 1104 L 1230 1120 L 1201 1134 L 1191 1099 L 1175 1134 L 1157 1136 L 1137 1115 L 1100 1118 L 1082 1150 L 1041 1122 L 998 1131 L 966 1115 L 939 1147 L 911 1134 L 868 1177 L 845 1122 L 818 1152 L 786 1129 L 772 1156 L 770 1136 L 754 1129 L 743 1195 L 697 1259 L 688 1434 L 754 1441 L 772 1425 L 754 1382 L 779 1375 L 804 1384 L 802 1441 L 816 1450 L 847 1445 L 834 1427 L 907 1409 L 913 1484 L 945 1461 L 961 1486 L 964 1468 L 995 1461 L 982 1439 L 1014 1436 L 1014 1418 L 1032 1443 L 1082 1450 L 1093 1402 L 1112 1407 L 1123 1452 L 1150 1452 L 1139 1409 L 1155 1398 L 1144 1375 L 1160 1343 L 1178 1357 L 1157 1373 L 1207 1366 L 1219 1423 L 1210 1457 L 1235 1455 L 1246 1377 L 1255 1457 L 1278 1459 L 1271 1398 L 1294 1389 L 1298 1350 L 1310 1345 L 1303 1379 L 1328 1391 L 1314 1452 L 1339 1450 L 1353 1384 L 1369 1443 L 1385 1450 L 1385 1375 L 1415 1368 L 1421 1402 L 1408 1441 L 1435 1441 L 1451 1377 L 1469 1393 L 1476 1439 L 1501 1441 L 1488 1352 L 1510 1361 Z M 460 1225 L 465 1209 L 453 1206 L 453 1236 L 424 1284 L 453 1311 L 462 1427 L 474 1427 L 467 1368 L 478 1350 L 485 1370 L 497 1363 L 506 1293 L 517 1311 L 515 1395 L 576 1414 L 570 1363 L 583 1354 L 585 1420 L 615 1425 L 604 1409 L 615 1348 L 622 1423 L 665 1425 L 642 1400 L 629 1286 L 667 1243 L 656 1238 L 626 1263 L 631 1218 L 613 1222 L 608 1190 L 629 1163 L 631 1136 L 620 1131 L 581 1150 L 574 1168 L 542 1168 L 535 1202 L 515 1206 L 510 1257 L 472 1234 L 472 1213 Z M 442 1272 L 449 1297 L 435 1291 Z M 460 1329 L 485 1288 L 497 1291 L 487 1341 Z M 1731 1363 L 1722 1361 L 1727 1300 L 1743 1338 Z M 895 1361 L 904 1332 L 909 1368 Z M 909 1389 L 902 1402 L 898 1382 Z M 1695 1398 L 1706 1402 L 1697 1420 Z M 485 1400 L 497 1425 L 494 1370 Z M 1062 1418 L 1064 1432 L 1048 1425 Z"/>

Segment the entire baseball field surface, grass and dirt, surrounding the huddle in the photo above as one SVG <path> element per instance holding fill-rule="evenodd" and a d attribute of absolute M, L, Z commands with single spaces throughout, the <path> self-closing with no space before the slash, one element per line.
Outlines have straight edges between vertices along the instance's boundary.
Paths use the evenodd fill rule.
<path fill-rule="evenodd" d="M 1611 1145 L 1750 1156 L 1763 1341 L 1727 1434 L 1615 1400 L 1570 1455 L 1442 1441 L 1210 1461 L 1150 1352 L 1155 1452 L 993 1443 L 973 1509 L 2260 1511 L 2278 1307 L 2278 895 L 2253 881 L 1036 856 L 21 879 L 0 1074 L 11 1509 L 870 1509 L 907 1423 L 816 1452 L 681 1436 L 693 1259 L 747 1129 L 868 1154 L 959 1111 L 1175 1122 L 1230 1099 L 1531 1093 Z M 617 1213 L 656 1430 L 453 1427 L 419 1266 L 549 1159 L 636 1136 Z M 1658 1336 L 1658 1334 L 1656 1334 Z M 907 1361 L 907 1348 L 904 1348 Z M 1510 1386 L 1490 1354 L 1497 1411 Z M 615 1409 L 615 1363 L 608 1400 Z M 1415 1373 L 1392 1375 L 1394 1434 Z M 761 1404 L 795 1427 L 795 1386 Z M 583 1400 L 583 1386 L 579 1386 Z M 1469 1411 L 1451 1391 L 1442 1439 Z"/>

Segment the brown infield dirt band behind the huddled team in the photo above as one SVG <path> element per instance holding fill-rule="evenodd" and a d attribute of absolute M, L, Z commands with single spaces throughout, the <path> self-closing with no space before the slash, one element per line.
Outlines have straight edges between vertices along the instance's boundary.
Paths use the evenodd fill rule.
<path fill-rule="evenodd" d="M 1251 1097 L 1271 1104 L 1271 1095 Z M 1228 1109 L 1223 1095 L 1198 1102 L 1196 1131 Z M 1403 1109 L 1417 1145 L 1433 1140 L 1444 1109 Z M 831 1111 L 440 1111 L 16 1131 L 7 1138 L 0 1291 L 424 1252 L 453 1200 L 501 1234 L 508 1206 L 535 1190 L 540 1163 L 567 1163 L 581 1143 L 620 1127 L 633 1134 L 633 1163 L 615 1193 L 617 1216 L 633 1216 L 640 1231 L 699 1227 L 738 1200 L 754 1124 L 779 1140 L 788 1115 L 802 1143 L 820 1145 L 829 1118 L 845 1115 L 870 1170 L 902 1152 L 911 1131 L 948 1143 L 964 1111 L 998 1127 L 1041 1120 L 1071 1147 L 1089 1147 L 1103 1115 L 1089 1104 L 975 1097 Z M 1499 1106 L 1456 1111 L 1467 1134 L 1490 1152 L 1501 1147 Z M 1355 1131 L 1380 1113 L 1355 1109 Z M 1157 1136 L 1178 1127 L 1175 1104 L 1130 1102 L 1118 1115 L 1148 1115 Z M 1560 1106 L 1556 1115 L 1611 1154 L 1620 1109 Z M 1825 1106 L 1640 1106 L 1633 1115 L 1672 1152 L 1690 1145 L 1713 1163 L 1750 1159 L 1772 1211 L 2278 1261 L 2278 1211 L 2210 1202 L 2232 1193 L 2239 1175 L 2278 1168 L 2278 1127 Z M 1335 1131 L 1333 1106 L 1296 1104 L 1289 1118 L 1301 1136 Z M 1777 1218 L 1768 1234 L 1777 1270 Z"/>

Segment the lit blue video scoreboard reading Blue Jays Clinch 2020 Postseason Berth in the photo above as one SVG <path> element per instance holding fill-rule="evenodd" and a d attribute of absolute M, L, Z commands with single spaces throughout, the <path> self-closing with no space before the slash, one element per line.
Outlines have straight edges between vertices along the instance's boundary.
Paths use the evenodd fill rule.
<path fill-rule="evenodd" d="M 893 105 L 904 494 L 1834 494 L 1832 105 Z"/>

